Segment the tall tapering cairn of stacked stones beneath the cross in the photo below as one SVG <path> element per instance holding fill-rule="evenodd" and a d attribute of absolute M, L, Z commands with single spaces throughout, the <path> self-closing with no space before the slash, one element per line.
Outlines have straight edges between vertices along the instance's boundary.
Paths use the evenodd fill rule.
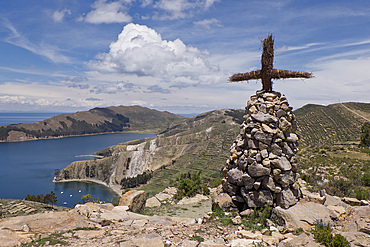
<path fill-rule="evenodd" d="M 239 210 L 267 203 L 289 208 L 298 202 L 296 129 L 292 107 L 284 95 L 257 91 L 251 96 L 223 170 L 223 190 Z"/>

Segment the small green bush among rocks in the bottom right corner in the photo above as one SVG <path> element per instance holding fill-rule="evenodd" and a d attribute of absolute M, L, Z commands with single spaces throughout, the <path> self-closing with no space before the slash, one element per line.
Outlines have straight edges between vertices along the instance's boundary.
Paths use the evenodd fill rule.
<path fill-rule="evenodd" d="M 333 237 L 330 225 L 323 223 L 322 220 L 316 222 L 315 229 L 313 229 L 313 238 L 326 247 L 351 246 L 347 239 L 342 235 L 335 234 L 335 236 Z"/>

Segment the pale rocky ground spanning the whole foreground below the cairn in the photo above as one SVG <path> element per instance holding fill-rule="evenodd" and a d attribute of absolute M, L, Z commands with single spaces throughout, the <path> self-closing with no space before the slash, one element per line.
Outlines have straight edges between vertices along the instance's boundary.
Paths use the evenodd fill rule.
<path fill-rule="evenodd" d="M 205 213 L 207 206 L 193 207 L 208 205 L 207 197 L 198 195 L 175 203 L 174 189 L 169 188 L 147 200 L 145 212 L 149 215 L 128 211 L 134 208 L 130 203 L 116 207 L 86 203 L 68 212 L 45 211 L 1 219 L 0 246 L 321 246 L 311 233 L 318 220 L 330 223 L 333 232 L 346 237 L 351 246 L 370 246 L 370 206 L 360 206 L 367 201 L 310 193 L 304 188 L 302 192 L 305 197 L 297 205 L 274 208 L 272 221 L 259 231 L 248 230 L 242 223 L 241 219 L 248 220 L 245 213 L 233 215 L 233 224 L 224 225 Z M 142 200 L 135 203 L 138 201 Z M 350 205 L 356 203 L 359 206 Z M 178 210 L 172 210 L 172 216 L 155 215 L 164 205 L 168 210 L 170 205 Z M 185 212 L 193 209 L 199 209 L 196 215 L 176 216 L 186 216 Z"/>

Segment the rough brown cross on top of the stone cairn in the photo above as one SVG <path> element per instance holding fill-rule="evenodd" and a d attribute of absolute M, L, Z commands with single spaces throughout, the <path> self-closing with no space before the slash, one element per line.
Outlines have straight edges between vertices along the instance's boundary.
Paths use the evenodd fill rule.
<path fill-rule="evenodd" d="M 285 79 L 285 78 L 311 78 L 312 73 L 299 72 L 292 70 L 273 69 L 274 61 L 274 39 L 270 34 L 263 40 L 263 52 L 261 56 L 261 69 L 247 73 L 235 74 L 230 77 L 229 81 L 248 81 L 262 79 L 262 90 L 271 92 L 271 79 Z"/>

